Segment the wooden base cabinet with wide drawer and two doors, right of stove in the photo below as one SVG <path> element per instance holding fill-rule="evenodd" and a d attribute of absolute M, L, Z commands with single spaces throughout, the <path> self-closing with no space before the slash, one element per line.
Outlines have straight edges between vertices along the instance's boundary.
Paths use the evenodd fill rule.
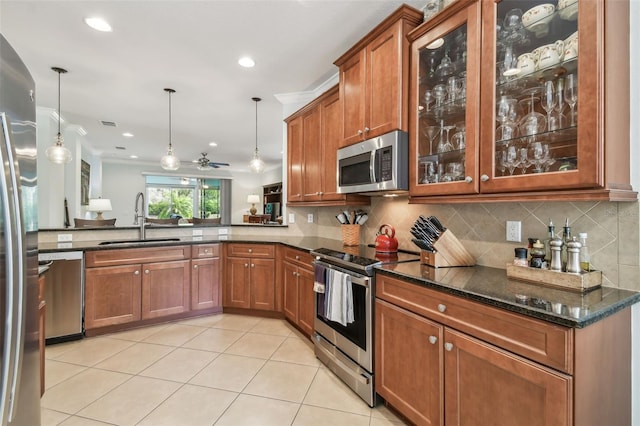
<path fill-rule="evenodd" d="M 377 274 L 376 392 L 420 425 L 628 424 L 630 320 L 573 329 Z"/>

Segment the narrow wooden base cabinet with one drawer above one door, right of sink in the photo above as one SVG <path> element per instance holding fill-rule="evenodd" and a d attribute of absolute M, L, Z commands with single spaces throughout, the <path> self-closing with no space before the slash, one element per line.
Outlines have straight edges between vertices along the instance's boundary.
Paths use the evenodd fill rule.
<path fill-rule="evenodd" d="M 191 247 L 191 309 L 222 307 L 220 244 Z"/>

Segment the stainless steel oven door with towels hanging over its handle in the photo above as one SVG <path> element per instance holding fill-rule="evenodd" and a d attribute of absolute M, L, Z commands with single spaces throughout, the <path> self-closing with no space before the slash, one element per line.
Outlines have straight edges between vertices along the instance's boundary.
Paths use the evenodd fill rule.
<path fill-rule="evenodd" d="M 354 321 L 346 326 L 326 319 L 322 315 L 325 295 L 324 293 L 316 293 L 315 331 L 365 370 L 373 372 L 373 277 L 361 275 L 321 261 L 315 261 L 314 264 L 316 267 L 321 265 L 350 275 L 354 318 Z"/>

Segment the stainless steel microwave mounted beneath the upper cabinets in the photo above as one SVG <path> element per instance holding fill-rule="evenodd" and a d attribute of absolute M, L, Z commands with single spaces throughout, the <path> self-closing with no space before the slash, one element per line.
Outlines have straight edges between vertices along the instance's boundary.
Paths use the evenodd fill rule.
<path fill-rule="evenodd" d="M 381 195 L 409 189 L 409 137 L 396 130 L 338 149 L 338 192 Z"/>

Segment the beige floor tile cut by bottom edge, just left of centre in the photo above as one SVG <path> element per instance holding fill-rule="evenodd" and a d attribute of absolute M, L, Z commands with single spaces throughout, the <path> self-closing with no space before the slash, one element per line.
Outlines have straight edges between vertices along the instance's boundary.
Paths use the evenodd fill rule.
<path fill-rule="evenodd" d="M 251 395 L 238 398 L 216 422 L 216 426 L 290 425 L 299 404 Z"/>

